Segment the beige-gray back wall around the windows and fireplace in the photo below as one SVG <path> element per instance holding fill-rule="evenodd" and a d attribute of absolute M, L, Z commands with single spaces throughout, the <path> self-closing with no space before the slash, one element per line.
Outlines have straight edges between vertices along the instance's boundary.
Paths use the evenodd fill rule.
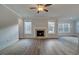
<path fill-rule="evenodd" d="M 29 19 L 24 19 L 25 21 L 31 21 L 32 22 L 32 34 L 23 34 L 24 38 L 33 38 L 35 37 L 35 29 L 38 29 L 38 28 L 42 28 L 42 29 L 46 29 L 46 37 L 47 38 L 57 38 L 58 36 L 60 35 L 75 35 L 75 29 L 74 29 L 74 25 L 75 25 L 75 22 L 74 20 L 68 20 L 68 19 L 65 19 L 65 20 L 62 20 L 62 19 L 58 19 L 58 18 L 55 18 L 55 17 L 30 17 Z M 48 21 L 54 21 L 56 22 L 56 27 L 55 27 L 55 34 L 48 34 Z M 71 32 L 70 33 L 58 33 L 58 26 L 57 24 L 58 23 L 62 23 L 62 22 L 67 22 L 67 23 L 71 23 Z M 22 23 L 20 23 L 20 25 L 22 25 Z M 24 24 L 23 24 L 24 26 Z M 23 28 L 23 26 L 21 26 L 20 28 Z M 21 30 L 20 32 L 24 32 L 24 28 L 23 30 Z"/>

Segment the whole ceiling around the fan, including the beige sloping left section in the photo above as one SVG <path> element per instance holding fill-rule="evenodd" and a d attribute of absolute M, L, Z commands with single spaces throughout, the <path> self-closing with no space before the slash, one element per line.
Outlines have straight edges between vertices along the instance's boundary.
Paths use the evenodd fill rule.
<path fill-rule="evenodd" d="M 48 12 L 36 13 L 36 10 L 29 9 L 34 4 L 7 4 L 0 5 L 0 28 L 11 24 L 18 23 L 18 16 L 26 18 L 49 19 L 56 17 L 57 19 L 79 20 L 79 4 L 56 4 L 48 7 Z"/>

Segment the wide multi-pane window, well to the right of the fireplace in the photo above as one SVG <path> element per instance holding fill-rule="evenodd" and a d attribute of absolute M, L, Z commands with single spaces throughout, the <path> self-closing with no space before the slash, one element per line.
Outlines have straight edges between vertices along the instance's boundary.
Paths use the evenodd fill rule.
<path fill-rule="evenodd" d="M 69 23 L 61 23 L 61 24 L 58 24 L 58 32 L 59 33 L 67 33 L 67 32 L 70 32 L 70 24 Z"/>

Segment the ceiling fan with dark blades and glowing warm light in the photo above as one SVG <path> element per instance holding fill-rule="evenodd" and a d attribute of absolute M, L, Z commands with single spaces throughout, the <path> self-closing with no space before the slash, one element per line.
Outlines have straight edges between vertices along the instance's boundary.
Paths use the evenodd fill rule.
<path fill-rule="evenodd" d="M 36 7 L 31 7 L 30 9 L 36 9 L 37 13 L 45 11 L 48 12 L 47 7 L 51 6 L 52 4 L 37 4 Z"/>

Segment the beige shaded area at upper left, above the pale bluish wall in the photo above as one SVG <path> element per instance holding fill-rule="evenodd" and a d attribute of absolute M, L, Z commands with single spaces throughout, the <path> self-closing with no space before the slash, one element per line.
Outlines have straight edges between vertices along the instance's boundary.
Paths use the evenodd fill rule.
<path fill-rule="evenodd" d="M 0 5 L 0 29 L 17 23 L 17 15 Z"/>

